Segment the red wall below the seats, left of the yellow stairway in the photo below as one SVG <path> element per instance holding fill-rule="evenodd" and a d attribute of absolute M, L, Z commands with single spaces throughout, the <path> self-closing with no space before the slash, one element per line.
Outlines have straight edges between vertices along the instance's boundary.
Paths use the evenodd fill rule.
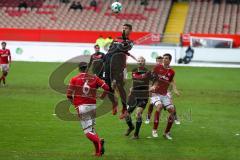
<path fill-rule="evenodd" d="M 134 32 L 131 39 L 136 41 L 148 35 L 148 32 Z M 35 42 L 71 42 L 95 43 L 99 36 L 107 38 L 121 36 L 120 32 L 107 31 L 73 31 L 73 30 L 41 30 L 0 28 L 0 39 L 6 41 L 35 41 Z"/>

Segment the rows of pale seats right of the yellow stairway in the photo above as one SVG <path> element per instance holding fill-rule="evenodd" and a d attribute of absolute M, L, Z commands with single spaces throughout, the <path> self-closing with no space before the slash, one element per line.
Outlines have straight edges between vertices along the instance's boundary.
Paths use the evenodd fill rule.
<path fill-rule="evenodd" d="M 184 33 L 240 34 L 240 5 L 225 0 L 193 0 Z"/>

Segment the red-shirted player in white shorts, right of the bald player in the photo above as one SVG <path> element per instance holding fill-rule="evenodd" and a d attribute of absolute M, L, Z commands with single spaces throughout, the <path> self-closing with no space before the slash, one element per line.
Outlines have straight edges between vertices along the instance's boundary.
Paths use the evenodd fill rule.
<path fill-rule="evenodd" d="M 155 76 L 157 83 L 150 88 L 150 91 L 152 92 L 151 103 L 156 106 L 152 136 L 158 137 L 157 129 L 159 117 L 162 109 L 165 108 L 169 112 L 169 117 L 164 137 L 170 140 L 172 139 L 170 136 L 170 129 L 174 122 L 175 113 L 174 105 L 172 104 L 170 97 L 167 95 L 169 85 L 175 75 L 175 71 L 169 66 L 171 60 L 172 56 L 170 54 L 166 53 L 163 55 L 163 65 L 156 65 L 153 69 L 153 75 Z"/>

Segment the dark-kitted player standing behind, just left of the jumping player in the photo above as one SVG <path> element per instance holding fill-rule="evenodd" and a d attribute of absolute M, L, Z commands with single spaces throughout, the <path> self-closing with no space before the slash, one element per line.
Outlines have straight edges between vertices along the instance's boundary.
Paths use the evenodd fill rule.
<path fill-rule="evenodd" d="M 97 75 L 99 78 L 103 79 L 103 60 L 105 54 L 100 52 L 100 47 L 98 44 L 94 46 L 95 53 L 91 55 L 88 68 L 92 66 L 93 74 Z"/>

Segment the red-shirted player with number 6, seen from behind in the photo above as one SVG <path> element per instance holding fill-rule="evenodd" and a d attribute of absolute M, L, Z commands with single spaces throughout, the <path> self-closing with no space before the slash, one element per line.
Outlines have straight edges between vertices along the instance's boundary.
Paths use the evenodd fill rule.
<path fill-rule="evenodd" d="M 94 129 L 96 91 L 99 87 L 104 89 L 103 94 L 100 96 L 103 99 L 107 91 L 109 91 L 109 86 L 96 75 L 88 74 L 87 67 L 86 62 L 79 64 L 80 74 L 70 80 L 67 98 L 78 112 L 85 135 L 95 146 L 95 156 L 102 156 L 104 154 L 104 140 L 98 137 Z"/>

